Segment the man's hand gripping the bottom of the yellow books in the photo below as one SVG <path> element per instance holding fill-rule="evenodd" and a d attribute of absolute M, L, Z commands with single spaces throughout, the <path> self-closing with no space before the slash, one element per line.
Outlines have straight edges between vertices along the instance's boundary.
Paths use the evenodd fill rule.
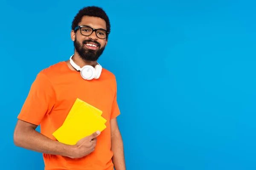
<path fill-rule="evenodd" d="M 73 158 L 81 158 L 87 156 L 95 150 L 96 146 L 96 137 L 99 136 L 100 131 L 96 131 L 90 136 L 86 136 L 80 139 L 74 146 L 75 152 Z"/>

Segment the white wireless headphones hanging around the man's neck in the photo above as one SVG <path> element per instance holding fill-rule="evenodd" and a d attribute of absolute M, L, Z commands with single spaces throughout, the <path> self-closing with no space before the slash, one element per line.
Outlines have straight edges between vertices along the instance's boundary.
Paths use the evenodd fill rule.
<path fill-rule="evenodd" d="M 95 68 L 91 65 L 84 65 L 84 67 L 80 68 L 78 65 L 76 65 L 75 62 L 73 62 L 72 57 L 73 55 L 70 57 L 70 64 L 76 68 L 77 71 L 80 71 L 81 77 L 83 77 L 83 79 L 99 79 L 99 76 L 102 72 L 102 66 L 98 62 Z"/>

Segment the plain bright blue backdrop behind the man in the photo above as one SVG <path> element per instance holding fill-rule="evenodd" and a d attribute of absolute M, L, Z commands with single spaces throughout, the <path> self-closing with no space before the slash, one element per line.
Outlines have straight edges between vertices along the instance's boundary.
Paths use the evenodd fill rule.
<path fill-rule="evenodd" d="M 90 5 L 111 20 L 99 62 L 117 78 L 128 170 L 256 169 L 256 3 L 244 0 L 1 0 L 0 169 L 44 169 L 13 144 L 17 115 L 36 74 L 73 54 L 71 22 Z"/>

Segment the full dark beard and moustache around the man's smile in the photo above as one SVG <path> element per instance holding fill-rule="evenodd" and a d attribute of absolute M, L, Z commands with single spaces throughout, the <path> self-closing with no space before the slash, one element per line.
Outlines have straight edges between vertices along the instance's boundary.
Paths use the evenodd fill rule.
<path fill-rule="evenodd" d="M 98 50 L 91 50 L 91 49 L 88 49 L 88 48 L 84 47 L 84 45 L 87 42 L 96 43 L 97 45 L 99 45 L 99 49 Z M 79 54 L 79 56 L 82 59 L 87 60 L 87 61 L 97 61 L 99 59 L 99 57 L 101 56 L 101 54 L 103 53 L 103 51 L 105 49 L 105 47 L 100 48 L 100 46 L 101 45 L 100 45 L 99 42 L 93 41 L 91 39 L 84 40 L 82 45 L 80 45 L 80 43 L 76 39 L 74 41 L 74 47 L 75 47 L 77 53 Z"/>

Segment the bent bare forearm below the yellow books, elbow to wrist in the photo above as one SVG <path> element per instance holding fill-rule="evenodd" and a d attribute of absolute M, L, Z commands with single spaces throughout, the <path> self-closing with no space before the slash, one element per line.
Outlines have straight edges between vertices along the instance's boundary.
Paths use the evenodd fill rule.
<path fill-rule="evenodd" d="M 19 130 L 14 134 L 14 142 L 18 147 L 33 150 L 40 153 L 61 155 L 70 157 L 72 146 L 49 139 L 33 128 Z"/>

